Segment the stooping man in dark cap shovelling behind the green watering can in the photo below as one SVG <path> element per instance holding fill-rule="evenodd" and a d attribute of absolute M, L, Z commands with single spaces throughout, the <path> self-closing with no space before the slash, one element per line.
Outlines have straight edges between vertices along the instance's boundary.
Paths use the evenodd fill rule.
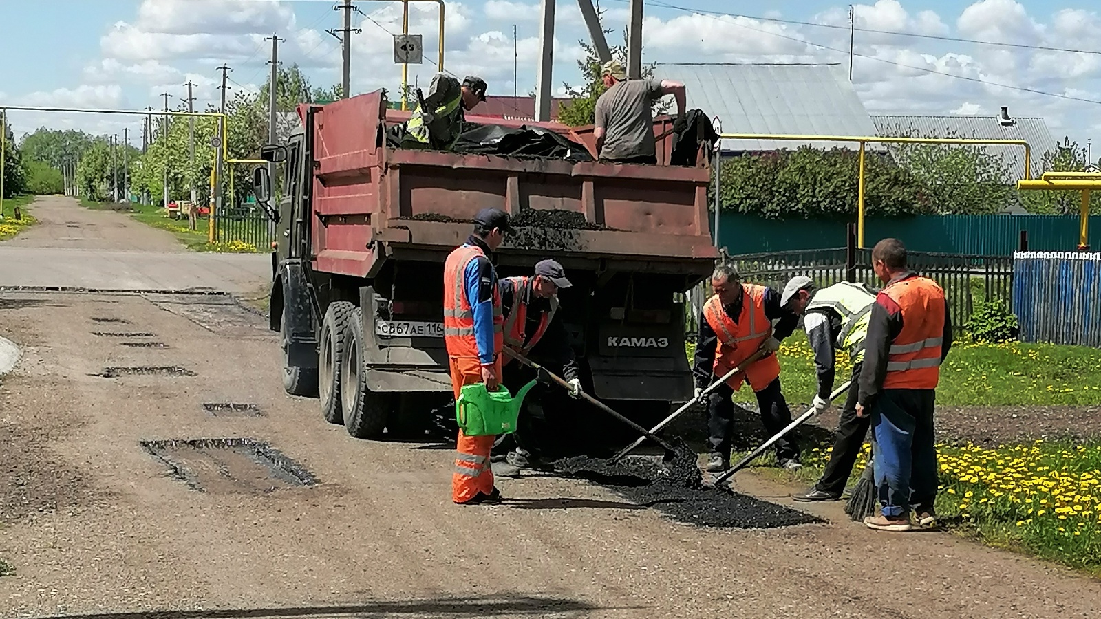
<path fill-rule="evenodd" d="M 499 289 L 504 310 L 504 344 L 524 357 L 559 373 L 569 383 L 569 394 L 581 397 L 581 381 L 577 372 L 577 358 L 569 345 L 569 334 L 556 319 L 558 291 L 573 284 L 566 270 L 555 260 L 535 264 L 530 278 L 504 278 Z M 509 358 L 504 359 L 504 385 L 516 392 L 533 378 L 535 371 Z M 538 383 L 524 399 L 516 432 L 503 435 L 494 445 L 493 473 L 502 477 L 517 477 L 524 468 L 538 467 L 548 435 L 544 403 L 562 393 L 557 387 Z"/>

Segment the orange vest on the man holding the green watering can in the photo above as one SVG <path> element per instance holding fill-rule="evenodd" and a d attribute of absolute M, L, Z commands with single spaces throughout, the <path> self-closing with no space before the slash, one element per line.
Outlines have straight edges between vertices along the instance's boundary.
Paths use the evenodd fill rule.
<path fill-rule="evenodd" d="M 467 300 L 462 276 L 467 264 L 477 258 L 486 258 L 478 246 L 464 245 L 447 257 L 444 263 L 444 345 L 451 357 L 478 357 L 478 339 L 475 337 L 475 312 Z M 493 286 L 493 354 L 500 355 L 504 347 L 504 318 L 501 315 L 501 294 Z"/>

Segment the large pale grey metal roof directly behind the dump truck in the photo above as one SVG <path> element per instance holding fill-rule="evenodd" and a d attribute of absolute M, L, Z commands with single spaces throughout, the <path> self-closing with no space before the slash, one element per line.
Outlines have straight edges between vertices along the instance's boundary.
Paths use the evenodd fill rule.
<path fill-rule="evenodd" d="M 655 76 L 682 82 L 688 108 L 718 116 L 726 133 L 874 135 L 875 124 L 836 64 L 657 65 Z M 723 140 L 724 151 L 841 146 L 844 142 Z"/>

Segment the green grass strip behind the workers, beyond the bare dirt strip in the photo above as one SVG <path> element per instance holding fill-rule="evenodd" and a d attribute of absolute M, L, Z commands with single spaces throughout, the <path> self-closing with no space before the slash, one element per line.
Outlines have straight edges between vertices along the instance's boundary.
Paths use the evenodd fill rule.
<path fill-rule="evenodd" d="M 695 351 L 688 345 L 688 358 Z M 838 355 L 837 382 L 852 366 Z M 690 362 L 690 361 L 689 361 Z M 784 395 L 793 405 L 807 403 L 817 388 L 814 354 L 803 332 L 780 348 Z M 754 400 L 743 388 L 734 400 Z M 1054 344 L 958 343 L 952 346 L 937 387 L 939 406 L 1095 405 L 1101 402 L 1101 350 Z"/>

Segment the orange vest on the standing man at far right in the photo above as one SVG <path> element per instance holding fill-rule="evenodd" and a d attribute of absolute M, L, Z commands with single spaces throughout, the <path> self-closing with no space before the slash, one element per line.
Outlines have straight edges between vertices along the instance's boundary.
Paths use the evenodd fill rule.
<path fill-rule="evenodd" d="M 887 351 L 883 389 L 936 389 L 945 335 L 945 291 L 928 278 L 913 276 L 887 285 L 902 310 L 902 332 Z"/>

